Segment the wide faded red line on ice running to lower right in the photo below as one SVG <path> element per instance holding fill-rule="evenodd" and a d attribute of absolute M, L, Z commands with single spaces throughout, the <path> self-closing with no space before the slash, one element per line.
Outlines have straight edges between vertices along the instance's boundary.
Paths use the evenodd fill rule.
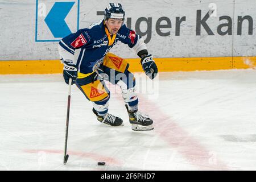
<path fill-rule="evenodd" d="M 154 126 L 156 133 L 160 135 L 170 146 L 174 147 L 179 154 L 182 154 L 185 159 L 191 164 L 199 167 L 202 170 L 228 170 L 228 166 L 216 159 L 212 161 L 212 155 L 210 151 L 200 144 L 199 141 L 193 139 L 191 135 L 185 131 L 182 127 L 177 125 L 169 115 L 163 113 L 157 104 L 148 101 L 139 96 L 140 110 L 144 111 L 148 115 L 151 114 L 151 118 L 154 120 Z"/>

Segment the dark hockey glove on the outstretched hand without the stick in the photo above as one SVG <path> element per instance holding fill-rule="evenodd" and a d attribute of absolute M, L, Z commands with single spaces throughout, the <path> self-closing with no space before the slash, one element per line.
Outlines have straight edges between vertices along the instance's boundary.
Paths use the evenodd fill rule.
<path fill-rule="evenodd" d="M 141 65 L 148 77 L 153 80 L 158 74 L 158 67 L 156 67 L 155 61 L 152 55 L 147 55 L 141 59 Z"/>

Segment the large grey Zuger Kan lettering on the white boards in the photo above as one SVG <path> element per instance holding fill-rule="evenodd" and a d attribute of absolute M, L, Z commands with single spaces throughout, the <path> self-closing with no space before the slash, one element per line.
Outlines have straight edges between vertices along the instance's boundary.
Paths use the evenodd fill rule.
<path fill-rule="evenodd" d="M 208 13 L 205 15 L 202 14 L 202 10 L 196 10 L 196 21 L 195 21 L 195 35 L 200 36 L 202 30 L 205 30 L 208 35 L 232 35 L 233 31 L 233 19 L 232 17 L 228 15 L 222 15 L 219 17 L 220 24 L 217 26 L 216 33 L 214 34 L 214 30 L 209 26 L 208 19 L 210 17 L 216 17 L 216 14 L 214 13 L 216 10 L 209 10 Z M 97 15 L 104 14 L 104 11 L 97 11 Z M 186 20 L 189 17 L 187 16 L 176 16 L 175 17 L 175 36 L 180 36 L 180 28 L 181 23 L 186 22 Z M 245 20 L 247 20 L 247 24 L 243 23 Z M 126 26 L 131 28 L 131 22 L 132 18 L 126 19 Z M 145 22 L 147 24 L 146 31 L 141 31 L 141 23 Z M 242 35 L 242 26 L 247 27 L 247 32 L 245 34 L 253 35 L 253 18 L 250 15 L 243 15 L 243 16 L 237 16 L 237 35 Z M 167 16 L 162 16 L 156 20 L 156 23 L 152 24 L 152 17 L 139 17 L 137 20 L 135 20 L 135 31 L 141 35 L 145 36 L 145 43 L 150 42 L 151 36 L 152 36 L 152 28 L 155 28 L 156 33 L 159 36 L 170 36 L 171 31 L 170 28 L 172 27 L 172 21 Z M 163 29 L 166 29 L 164 32 Z"/>

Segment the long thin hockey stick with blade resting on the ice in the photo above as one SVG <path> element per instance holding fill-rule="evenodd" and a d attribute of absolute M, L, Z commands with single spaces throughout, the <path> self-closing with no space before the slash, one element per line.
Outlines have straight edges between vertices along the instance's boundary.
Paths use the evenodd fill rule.
<path fill-rule="evenodd" d="M 64 165 L 67 163 L 68 157 L 69 157 L 69 155 L 67 154 L 67 144 L 68 144 L 69 109 L 70 109 L 70 99 L 71 99 L 71 82 L 72 82 L 72 78 L 69 78 L 69 81 L 68 81 L 68 109 L 67 109 L 67 121 L 66 121 L 64 161 L 63 161 Z"/>

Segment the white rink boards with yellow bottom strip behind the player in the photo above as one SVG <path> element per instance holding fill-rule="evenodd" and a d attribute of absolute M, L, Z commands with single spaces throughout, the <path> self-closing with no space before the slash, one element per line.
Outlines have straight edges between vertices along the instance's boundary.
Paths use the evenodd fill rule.
<path fill-rule="evenodd" d="M 102 20 L 107 3 L 0 3 L 0 24 L 5 25 L 1 28 L 0 74 L 60 73 L 59 40 Z M 255 66 L 255 0 L 131 0 L 122 1 L 122 6 L 126 26 L 143 37 L 159 71 Z M 127 45 L 118 43 L 111 52 L 128 59 L 131 71 L 142 71 L 137 54 Z"/>

